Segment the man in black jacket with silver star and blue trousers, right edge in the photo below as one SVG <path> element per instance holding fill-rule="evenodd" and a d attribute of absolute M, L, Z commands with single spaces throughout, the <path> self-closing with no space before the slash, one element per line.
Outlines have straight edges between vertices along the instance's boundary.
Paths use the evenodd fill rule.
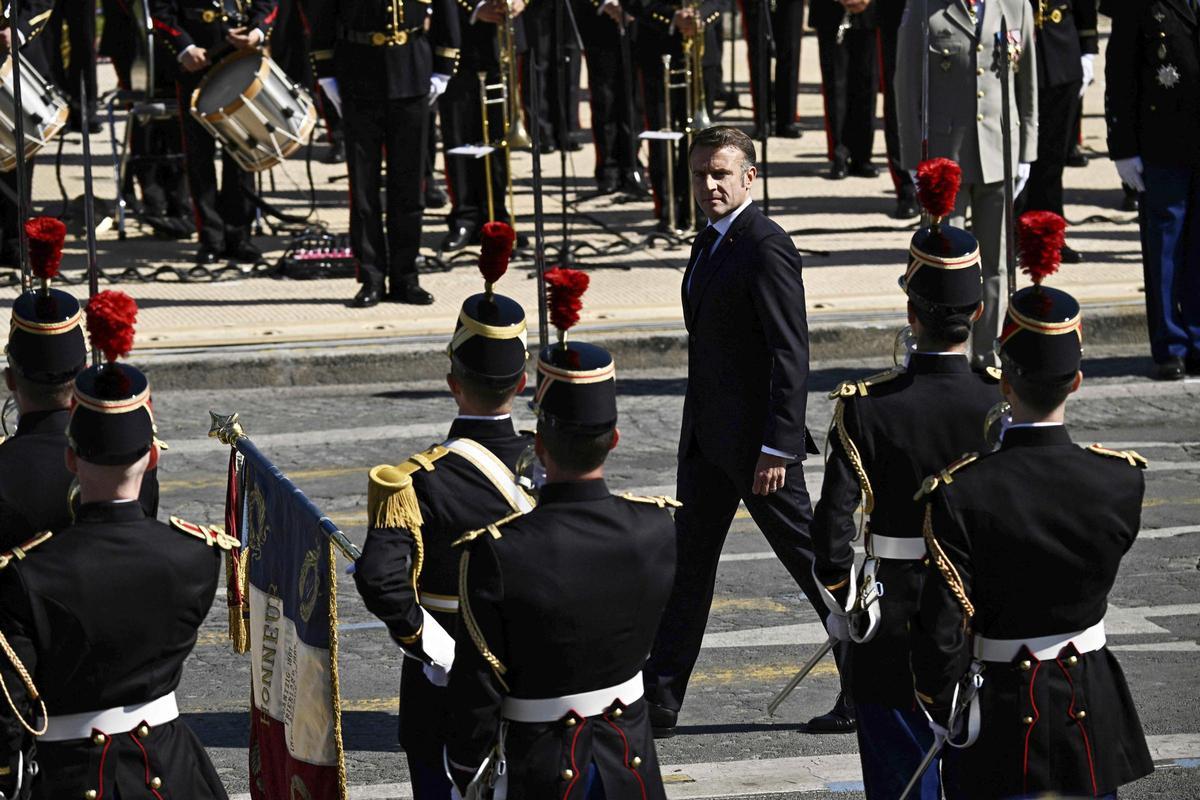
<path fill-rule="evenodd" d="M 1109 156 L 1140 193 L 1156 375 L 1200 374 L 1200 11 L 1114 2 L 1105 65 Z"/>

